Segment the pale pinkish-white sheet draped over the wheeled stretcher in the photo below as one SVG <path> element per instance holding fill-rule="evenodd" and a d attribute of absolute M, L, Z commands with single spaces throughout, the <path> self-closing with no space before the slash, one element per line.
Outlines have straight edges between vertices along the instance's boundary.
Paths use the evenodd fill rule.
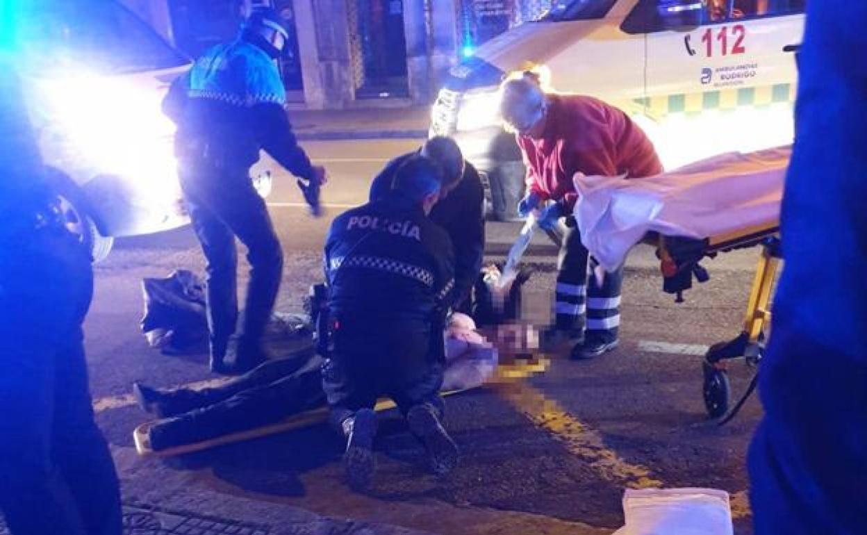
<path fill-rule="evenodd" d="M 612 271 L 647 232 L 709 238 L 778 221 L 791 154 L 725 153 L 644 179 L 577 173 L 581 241 Z"/>

